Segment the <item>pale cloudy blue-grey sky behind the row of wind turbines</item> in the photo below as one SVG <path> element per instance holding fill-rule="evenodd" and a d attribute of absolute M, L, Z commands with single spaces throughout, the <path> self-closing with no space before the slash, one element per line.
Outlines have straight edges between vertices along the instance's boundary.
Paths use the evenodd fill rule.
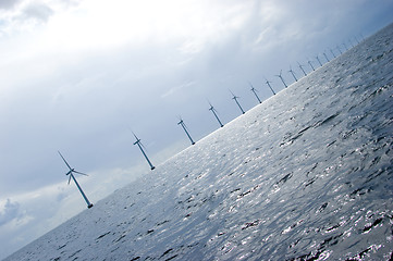
<path fill-rule="evenodd" d="M 0 0 L 0 259 L 390 24 L 392 0 Z"/>

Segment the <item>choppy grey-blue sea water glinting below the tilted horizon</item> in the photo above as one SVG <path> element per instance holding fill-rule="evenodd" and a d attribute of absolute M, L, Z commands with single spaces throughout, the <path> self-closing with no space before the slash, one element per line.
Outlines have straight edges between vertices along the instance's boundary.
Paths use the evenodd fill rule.
<path fill-rule="evenodd" d="M 9 260 L 392 260 L 393 26 Z"/>

